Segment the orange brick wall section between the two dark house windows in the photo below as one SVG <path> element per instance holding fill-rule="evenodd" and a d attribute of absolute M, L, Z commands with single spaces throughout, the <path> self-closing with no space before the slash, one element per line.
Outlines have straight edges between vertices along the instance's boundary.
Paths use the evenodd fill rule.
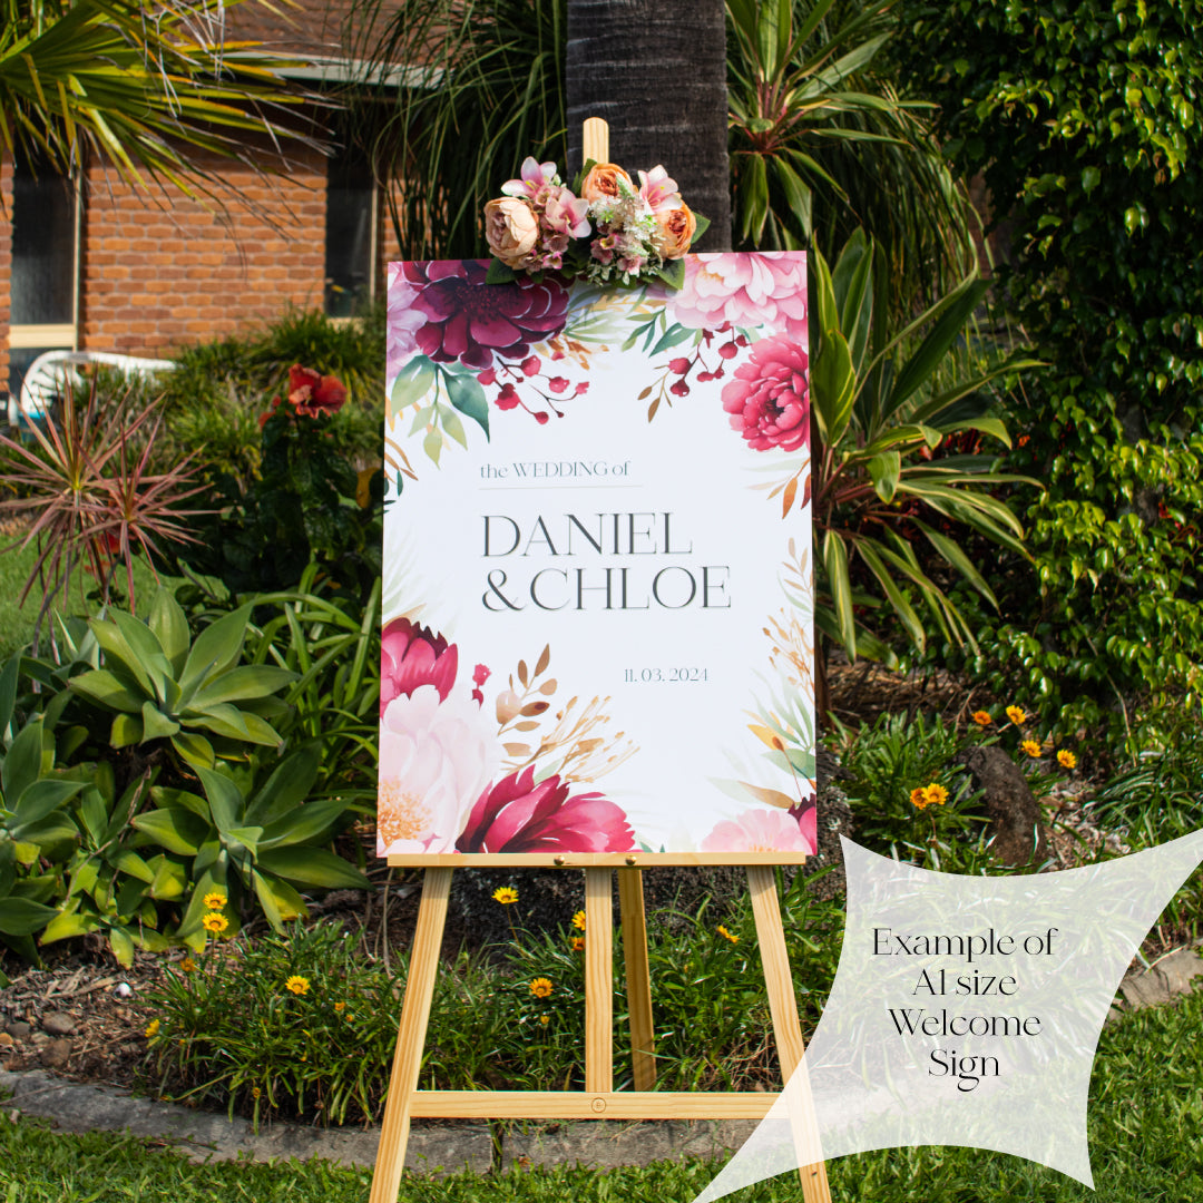
<path fill-rule="evenodd" d="M 266 322 L 290 304 L 321 308 L 326 164 L 295 153 L 286 178 L 229 161 L 203 164 L 233 189 L 226 213 L 178 192 L 136 195 L 111 168 L 87 174 L 79 345 L 158 356 Z M 7 294 L 5 294 L 7 295 Z"/>

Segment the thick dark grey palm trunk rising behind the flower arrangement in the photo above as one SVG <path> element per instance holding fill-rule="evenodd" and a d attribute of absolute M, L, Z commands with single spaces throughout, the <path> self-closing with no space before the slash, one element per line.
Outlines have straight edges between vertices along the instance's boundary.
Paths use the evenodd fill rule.
<path fill-rule="evenodd" d="M 731 245 L 723 0 L 568 0 L 568 161 L 581 124 L 610 123 L 610 158 L 634 174 L 663 164 L 711 227 L 699 250 Z"/>

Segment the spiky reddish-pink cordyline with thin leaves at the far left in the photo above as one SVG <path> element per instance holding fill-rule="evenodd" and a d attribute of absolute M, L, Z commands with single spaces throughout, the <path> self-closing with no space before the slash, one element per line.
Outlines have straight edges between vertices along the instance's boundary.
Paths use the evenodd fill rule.
<path fill-rule="evenodd" d="M 66 600 L 81 567 L 95 577 L 107 604 L 118 564 L 124 563 L 134 612 L 135 552 L 142 551 L 149 562 L 161 553 L 159 540 L 195 543 L 179 520 L 203 512 L 179 509 L 203 487 L 192 484 L 191 455 L 168 472 L 147 472 L 161 422 L 158 399 L 135 408 L 126 392 L 103 404 L 93 379 L 81 407 L 69 380 L 57 419 L 45 428 L 26 419 L 40 455 L 0 435 L 0 449 L 10 456 L 5 482 L 18 493 L 0 502 L 0 514 L 31 521 L 25 534 L 4 550 L 37 545 L 37 559 L 20 592 L 24 605 L 35 585 L 42 589 L 35 646 L 47 612 L 55 598 Z"/>

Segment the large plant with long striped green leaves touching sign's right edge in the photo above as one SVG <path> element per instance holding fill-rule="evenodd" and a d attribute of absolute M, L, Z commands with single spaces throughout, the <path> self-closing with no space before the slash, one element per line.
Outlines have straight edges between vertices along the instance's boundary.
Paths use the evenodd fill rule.
<path fill-rule="evenodd" d="M 972 275 L 891 332 L 875 295 L 884 278 L 875 272 L 878 254 L 858 232 L 834 269 L 817 251 L 811 259 L 811 480 L 820 567 L 814 621 L 849 658 L 889 660 L 893 653 L 869 622 L 883 605 L 918 648 L 931 627 L 976 647 L 925 563 L 942 564 L 997 608 L 958 545 L 956 527 L 1027 556 L 1019 520 L 998 496 L 1025 478 L 997 472 L 998 456 L 982 437 L 1011 445 L 988 386 L 1038 365 L 1012 357 L 959 371 L 955 345 L 988 286 Z"/>

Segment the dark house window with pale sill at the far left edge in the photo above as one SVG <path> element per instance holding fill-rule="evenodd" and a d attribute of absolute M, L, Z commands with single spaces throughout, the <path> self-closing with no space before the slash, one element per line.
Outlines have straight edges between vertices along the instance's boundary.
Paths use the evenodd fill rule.
<path fill-rule="evenodd" d="M 75 350 L 78 211 L 71 180 L 45 162 L 14 165 L 8 327 L 8 389 L 14 395 L 42 351 Z"/>

